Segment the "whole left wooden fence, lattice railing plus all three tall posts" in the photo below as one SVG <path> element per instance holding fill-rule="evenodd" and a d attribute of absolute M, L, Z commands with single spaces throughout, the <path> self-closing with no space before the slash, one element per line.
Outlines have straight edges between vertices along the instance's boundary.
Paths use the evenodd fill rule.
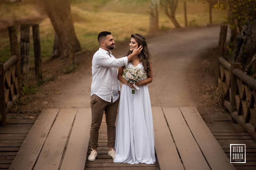
<path fill-rule="evenodd" d="M 17 101 L 22 92 L 22 81 L 29 85 L 29 31 L 33 28 L 35 75 L 37 81 L 42 79 L 41 47 L 38 24 L 21 25 L 20 52 L 17 31 L 14 26 L 8 27 L 11 58 L 6 63 L 0 63 L 0 126 L 6 126 L 6 114 Z M 21 60 L 22 58 L 22 60 Z M 23 73 L 22 74 L 22 70 Z"/>

